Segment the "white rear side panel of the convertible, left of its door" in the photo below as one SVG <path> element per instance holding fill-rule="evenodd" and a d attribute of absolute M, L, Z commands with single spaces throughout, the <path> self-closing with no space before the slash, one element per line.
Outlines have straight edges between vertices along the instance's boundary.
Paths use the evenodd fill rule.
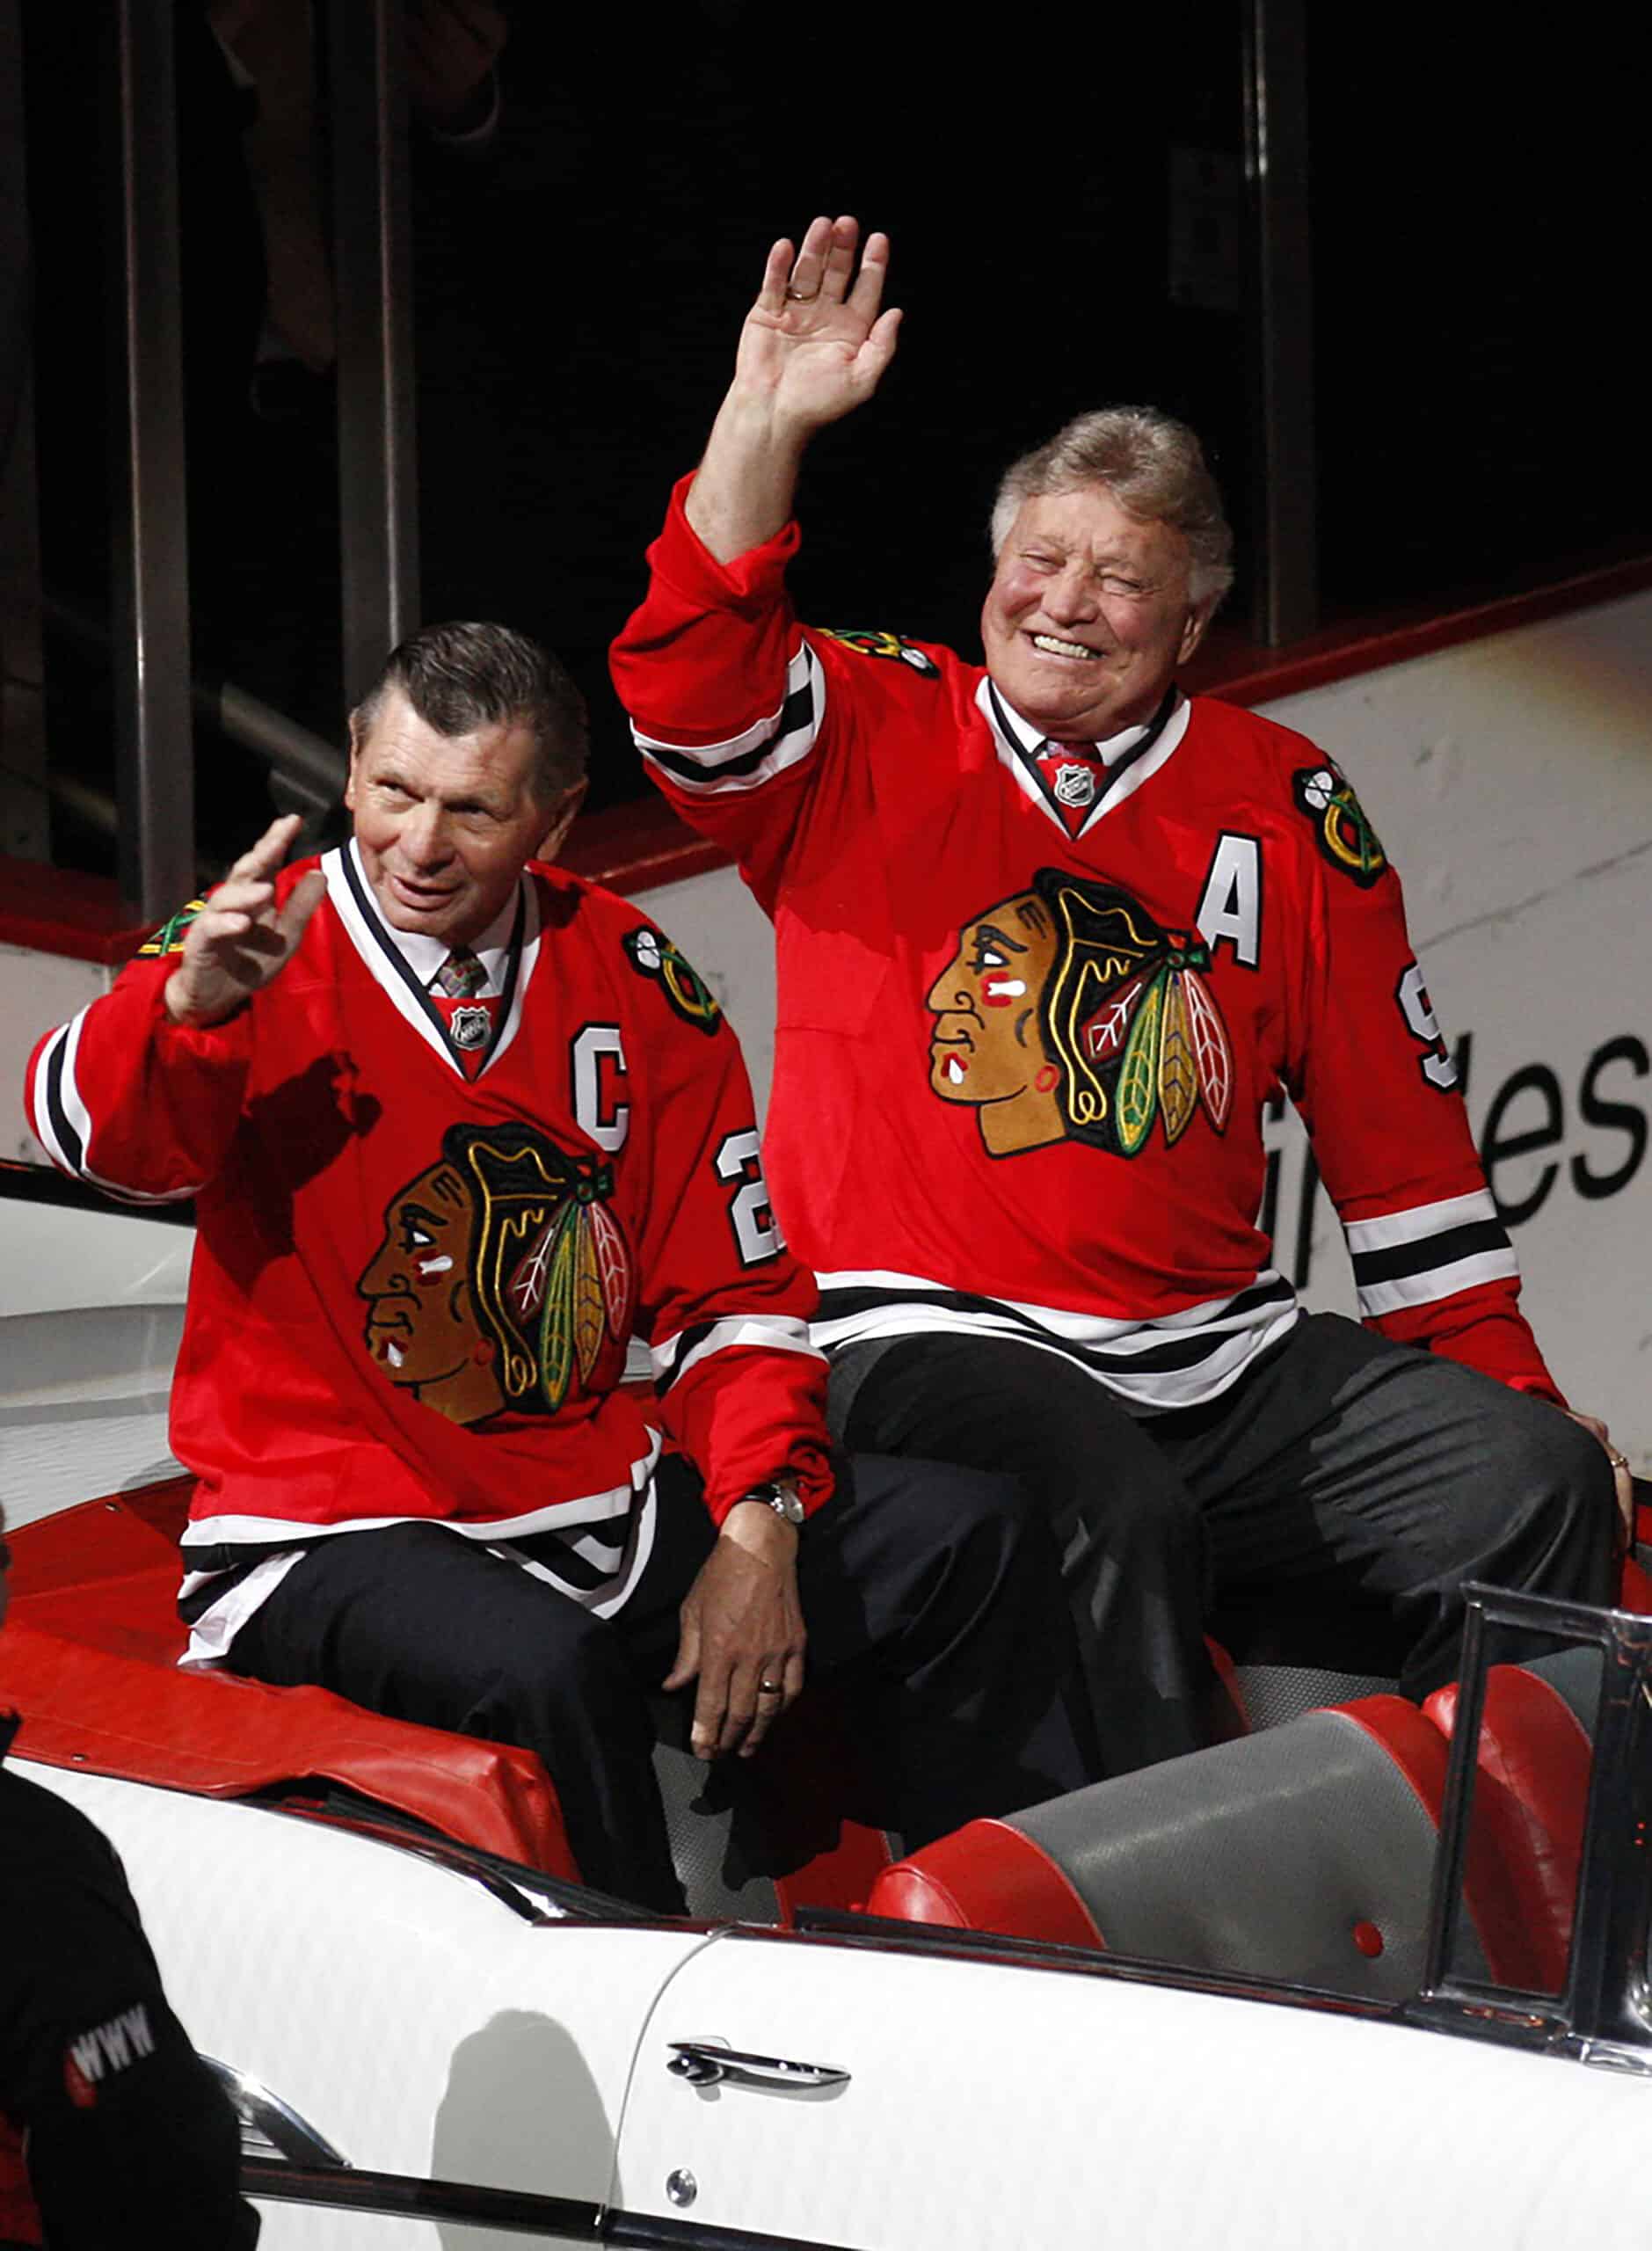
<path fill-rule="evenodd" d="M 243 2082 L 268 2251 L 596 2240 L 639 2028 L 702 1931 L 556 1920 L 349 1830 L 16 1769 L 115 1844 L 173 2010 Z"/>

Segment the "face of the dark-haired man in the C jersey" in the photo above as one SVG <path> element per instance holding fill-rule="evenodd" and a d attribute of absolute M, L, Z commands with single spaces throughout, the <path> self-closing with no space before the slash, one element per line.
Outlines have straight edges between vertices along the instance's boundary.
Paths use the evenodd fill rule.
<path fill-rule="evenodd" d="M 551 860 L 585 786 L 536 795 L 522 725 L 437 734 L 389 689 L 351 738 L 344 804 L 378 912 L 392 930 L 468 945 L 500 914 L 527 860 Z"/>

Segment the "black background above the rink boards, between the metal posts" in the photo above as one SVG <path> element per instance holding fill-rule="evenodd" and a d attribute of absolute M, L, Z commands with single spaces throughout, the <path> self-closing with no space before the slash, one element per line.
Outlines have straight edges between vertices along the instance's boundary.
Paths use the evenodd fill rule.
<path fill-rule="evenodd" d="M 108 612 L 106 83 L 86 18 L 27 14 L 43 576 Z M 774 234 L 855 212 L 907 308 L 878 401 L 806 470 L 806 615 L 977 646 L 1004 464 L 1089 405 L 1204 434 L 1251 556 L 1254 279 L 1240 9 L 803 16 L 756 0 L 513 9 L 486 158 L 416 135 L 425 617 L 502 617 L 592 705 L 594 801 L 641 795 L 605 644 L 641 592 Z M 263 290 L 245 115 L 180 7 L 196 669 L 342 741 L 331 385 L 248 407 Z M 1445 9 L 1310 9 L 1321 601 L 1330 619 L 1560 576 L 1645 536 L 1643 200 L 1629 77 L 1587 18 L 1542 50 Z M 1175 185 L 1173 185 L 1175 182 Z M 1197 182 L 1191 189 L 1191 182 Z M 47 635 L 50 745 L 110 788 L 106 669 Z M 261 826 L 198 743 L 200 846 Z M 54 855 L 113 844 L 59 810 Z"/>

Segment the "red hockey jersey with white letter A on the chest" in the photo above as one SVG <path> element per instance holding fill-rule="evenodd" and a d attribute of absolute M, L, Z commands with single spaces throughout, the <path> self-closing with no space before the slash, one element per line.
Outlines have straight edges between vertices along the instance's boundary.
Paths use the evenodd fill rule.
<path fill-rule="evenodd" d="M 1557 1398 L 1400 880 L 1323 752 L 1175 689 L 1044 743 L 945 648 L 801 628 L 797 527 L 725 567 L 684 493 L 614 682 L 774 921 L 765 1157 L 815 1339 L 1004 1335 L 1148 1414 L 1213 1398 L 1296 1319 L 1256 1225 L 1283 1087 L 1359 1312 Z"/>

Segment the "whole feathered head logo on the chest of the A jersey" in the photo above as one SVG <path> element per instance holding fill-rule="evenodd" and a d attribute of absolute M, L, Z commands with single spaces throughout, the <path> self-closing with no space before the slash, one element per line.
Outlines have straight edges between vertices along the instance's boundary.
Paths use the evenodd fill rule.
<path fill-rule="evenodd" d="M 1062 1139 L 1134 1157 L 1200 1107 L 1222 1132 L 1233 1049 L 1206 968 L 1128 891 L 1044 867 L 966 925 L 930 988 L 930 1085 L 979 1110 L 993 1157 Z"/>

